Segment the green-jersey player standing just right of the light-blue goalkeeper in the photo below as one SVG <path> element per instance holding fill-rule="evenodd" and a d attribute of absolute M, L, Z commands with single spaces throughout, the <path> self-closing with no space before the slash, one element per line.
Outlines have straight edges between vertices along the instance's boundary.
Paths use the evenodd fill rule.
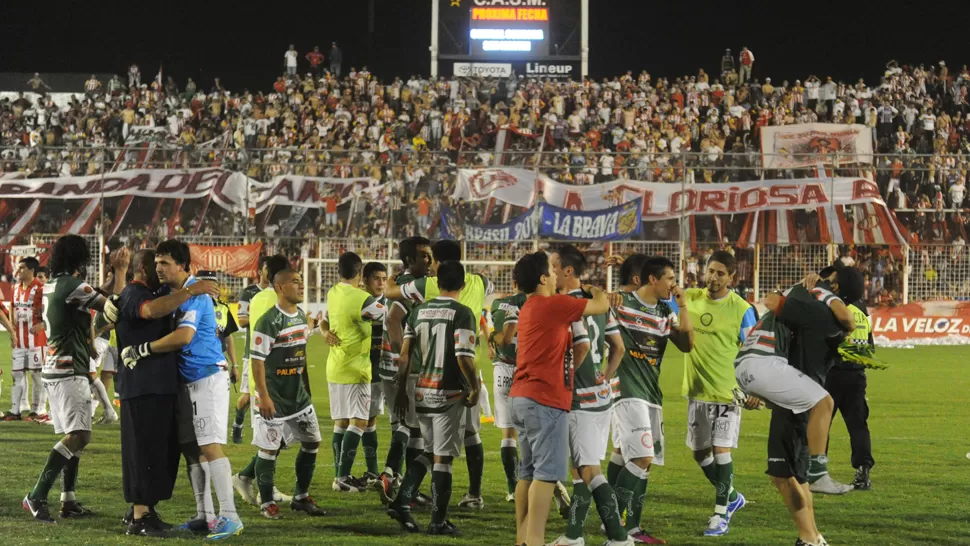
<path fill-rule="evenodd" d="M 306 372 L 306 343 L 310 327 L 297 307 L 303 301 L 303 278 L 292 269 L 277 273 L 273 288 L 279 298 L 254 325 L 251 372 L 256 383 L 253 413 L 253 445 L 259 448 L 256 483 L 264 502 L 260 513 L 280 519 L 273 500 L 276 457 L 285 442 L 300 442 L 296 455 L 296 491 L 290 509 L 311 516 L 326 513 L 310 497 L 310 482 L 320 449 L 320 425 L 303 381 Z M 269 500 L 265 500 L 269 499 Z"/>

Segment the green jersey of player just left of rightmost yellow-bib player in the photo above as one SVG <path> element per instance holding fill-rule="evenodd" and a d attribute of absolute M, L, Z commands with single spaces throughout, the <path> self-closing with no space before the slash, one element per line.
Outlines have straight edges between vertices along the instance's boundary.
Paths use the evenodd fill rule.
<path fill-rule="evenodd" d="M 644 400 L 655 406 L 663 405 L 660 390 L 660 364 L 663 362 L 671 326 L 676 326 L 677 314 L 665 301 L 644 302 L 636 292 L 624 292 L 623 303 L 616 309 L 620 335 L 626 354 L 613 378 L 613 398 Z"/>

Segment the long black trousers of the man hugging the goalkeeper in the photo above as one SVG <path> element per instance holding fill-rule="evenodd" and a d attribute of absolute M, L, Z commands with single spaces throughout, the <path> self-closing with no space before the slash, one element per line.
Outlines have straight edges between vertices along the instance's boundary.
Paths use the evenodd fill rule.
<path fill-rule="evenodd" d="M 176 400 L 149 394 L 121 401 L 121 483 L 131 504 L 172 498 L 180 460 Z"/>

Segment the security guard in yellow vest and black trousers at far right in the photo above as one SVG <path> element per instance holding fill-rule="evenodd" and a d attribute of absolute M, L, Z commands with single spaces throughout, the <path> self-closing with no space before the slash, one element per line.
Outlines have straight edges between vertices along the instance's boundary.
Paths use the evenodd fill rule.
<path fill-rule="evenodd" d="M 859 300 L 848 308 L 855 319 L 855 330 L 846 337 L 843 347 L 851 352 L 871 354 L 875 351 L 875 343 L 866 304 Z M 876 463 L 872 459 L 872 440 L 867 423 L 869 404 L 866 403 L 866 369 L 862 364 L 839 355 L 825 378 L 825 388 L 835 401 L 832 417 L 841 411 L 842 420 L 849 431 L 852 467 L 856 469 L 852 485 L 857 490 L 869 491 L 872 489 L 869 471 Z"/>

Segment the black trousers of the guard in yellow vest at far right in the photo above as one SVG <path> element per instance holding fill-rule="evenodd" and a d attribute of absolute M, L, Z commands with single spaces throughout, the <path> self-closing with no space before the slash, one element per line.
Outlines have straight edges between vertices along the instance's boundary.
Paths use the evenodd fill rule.
<path fill-rule="evenodd" d="M 866 371 L 835 366 L 825 378 L 825 388 L 835 401 L 836 412 L 842 412 L 842 420 L 849 431 L 852 446 L 852 467 L 871 467 L 872 439 L 869 436 L 869 404 L 866 403 Z M 828 453 L 828 446 L 825 448 Z"/>

